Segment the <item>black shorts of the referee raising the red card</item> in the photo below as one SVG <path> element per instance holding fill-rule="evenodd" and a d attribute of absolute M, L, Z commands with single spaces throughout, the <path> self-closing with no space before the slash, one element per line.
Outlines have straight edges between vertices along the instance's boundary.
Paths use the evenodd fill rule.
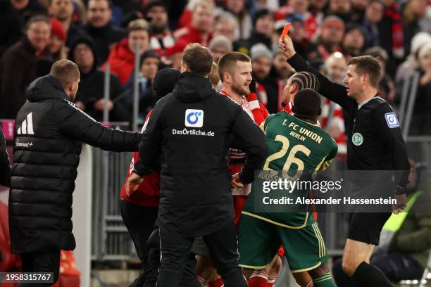
<path fill-rule="evenodd" d="M 347 238 L 379 245 L 380 232 L 391 214 L 391 212 L 352 212 Z"/>

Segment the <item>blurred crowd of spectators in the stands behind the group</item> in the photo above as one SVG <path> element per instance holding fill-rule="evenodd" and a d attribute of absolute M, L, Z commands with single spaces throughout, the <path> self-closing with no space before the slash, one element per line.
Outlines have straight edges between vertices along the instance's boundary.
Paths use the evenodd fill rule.
<path fill-rule="evenodd" d="M 259 101 L 276 113 L 292 75 L 277 51 L 287 22 L 297 53 L 333 81 L 342 83 L 351 57 L 375 56 L 385 70 L 379 96 L 394 106 L 418 73 L 410 134 L 431 134 L 429 0 L 0 0 L 0 118 L 14 119 L 30 82 L 68 58 L 81 72 L 76 105 L 102 119 L 109 64 L 109 118 L 130 121 L 136 53 L 144 118 L 158 101 L 157 70 L 180 69 L 192 42 L 207 46 L 215 63 L 229 51 L 249 55 Z M 325 101 L 321 122 L 345 153 L 342 109 Z"/>

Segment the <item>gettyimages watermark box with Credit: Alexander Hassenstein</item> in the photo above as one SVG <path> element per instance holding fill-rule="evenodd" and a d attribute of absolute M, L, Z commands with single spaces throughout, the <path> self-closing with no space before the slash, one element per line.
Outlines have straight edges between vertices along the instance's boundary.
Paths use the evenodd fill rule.
<path fill-rule="evenodd" d="M 394 183 L 402 172 L 256 172 L 256 212 L 389 212 L 396 204 Z M 413 191 L 412 191 L 413 192 Z M 430 205 L 423 205 L 430 211 Z"/>

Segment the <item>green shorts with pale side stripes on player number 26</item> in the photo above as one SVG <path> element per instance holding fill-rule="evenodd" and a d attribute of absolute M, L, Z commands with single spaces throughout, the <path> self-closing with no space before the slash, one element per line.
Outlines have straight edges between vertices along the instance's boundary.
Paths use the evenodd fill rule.
<path fill-rule="evenodd" d="M 243 214 L 239 221 L 239 266 L 262 269 L 283 245 L 292 272 L 315 269 L 327 260 L 325 242 L 313 217 L 301 229 L 289 229 Z"/>

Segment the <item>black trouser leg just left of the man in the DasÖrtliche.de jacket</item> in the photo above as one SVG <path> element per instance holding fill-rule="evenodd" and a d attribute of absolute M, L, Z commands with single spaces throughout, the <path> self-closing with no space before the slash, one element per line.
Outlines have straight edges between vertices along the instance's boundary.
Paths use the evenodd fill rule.
<path fill-rule="evenodd" d="M 158 273 L 157 270 L 149 268 L 146 241 L 155 228 L 154 224 L 156 223 L 158 208 L 150 208 L 120 200 L 120 212 L 144 268 L 141 276 L 130 286 L 142 287 L 147 281 L 156 282 Z"/>

